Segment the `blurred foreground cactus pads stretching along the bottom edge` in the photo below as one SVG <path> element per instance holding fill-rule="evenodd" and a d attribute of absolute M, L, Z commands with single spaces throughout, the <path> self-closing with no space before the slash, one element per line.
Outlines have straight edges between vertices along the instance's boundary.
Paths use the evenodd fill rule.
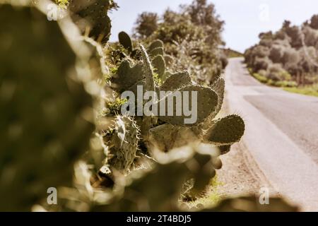
<path fill-rule="evenodd" d="M 215 172 L 218 148 L 188 145 L 158 155 L 157 162 L 144 158 L 146 169 L 136 169 L 117 180 L 116 189 L 88 186 L 90 171 L 81 163 L 76 170 L 78 190 L 62 189 L 54 210 L 77 211 L 297 211 L 281 198 L 269 198 L 261 205 L 257 196 L 228 198 L 212 208 L 189 208 L 180 201 L 185 181 L 194 178 L 196 187 L 205 186 Z M 49 206 L 44 206 L 52 210 Z"/>

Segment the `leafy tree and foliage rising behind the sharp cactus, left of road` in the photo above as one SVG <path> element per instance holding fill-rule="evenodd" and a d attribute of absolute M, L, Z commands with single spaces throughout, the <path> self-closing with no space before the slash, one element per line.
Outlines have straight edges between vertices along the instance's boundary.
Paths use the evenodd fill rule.
<path fill-rule="evenodd" d="M 213 4 L 195 0 L 180 7 L 179 11 L 167 9 L 157 28 L 148 30 L 149 35 L 139 32 L 140 20 L 143 18 L 137 20 L 135 36 L 144 42 L 162 40 L 165 52 L 176 59 L 172 67 L 189 70 L 194 81 L 213 83 L 227 65 L 219 49 L 224 44 L 220 36 L 224 22 L 216 15 Z"/>

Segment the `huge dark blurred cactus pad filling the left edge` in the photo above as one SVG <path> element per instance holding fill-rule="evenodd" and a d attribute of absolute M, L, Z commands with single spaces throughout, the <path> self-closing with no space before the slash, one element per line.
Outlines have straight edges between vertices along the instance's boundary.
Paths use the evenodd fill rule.
<path fill-rule="evenodd" d="M 94 128 L 92 98 L 56 22 L 0 3 L 0 24 L 0 210 L 30 210 L 49 187 L 71 183 Z"/>

